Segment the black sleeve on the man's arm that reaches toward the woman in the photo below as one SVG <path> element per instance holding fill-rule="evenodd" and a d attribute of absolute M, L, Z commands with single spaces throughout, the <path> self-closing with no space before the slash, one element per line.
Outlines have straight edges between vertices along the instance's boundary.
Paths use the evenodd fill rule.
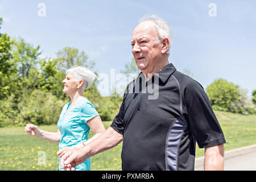
<path fill-rule="evenodd" d="M 123 96 L 123 102 L 121 104 L 119 112 L 113 119 L 112 124 L 110 125 L 110 127 L 112 127 L 115 131 L 117 131 L 120 134 L 123 134 L 123 129 L 124 129 L 124 122 L 123 122 L 123 114 L 124 114 L 123 107 L 124 107 L 124 105 L 125 105 L 125 94 Z"/>

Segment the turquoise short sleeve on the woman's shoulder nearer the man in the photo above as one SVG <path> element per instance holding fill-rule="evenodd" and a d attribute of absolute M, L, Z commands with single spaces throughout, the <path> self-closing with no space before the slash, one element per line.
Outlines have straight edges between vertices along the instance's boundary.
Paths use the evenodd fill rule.
<path fill-rule="evenodd" d="M 90 119 L 96 117 L 97 115 L 99 114 L 94 108 L 94 106 L 92 105 L 92 103 L 90 103 L 89 101 L 86 101 L 84 104 L 82 104 L 81 106 L 82 122 L 87 123 Z"/>

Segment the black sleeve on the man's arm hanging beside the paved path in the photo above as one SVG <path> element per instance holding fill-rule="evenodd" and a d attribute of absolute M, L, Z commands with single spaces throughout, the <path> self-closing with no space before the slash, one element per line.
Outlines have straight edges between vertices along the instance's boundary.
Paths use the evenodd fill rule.
<path fill-rule="evenodd" d="M 184 90 L 184 99 L 189 129 L 199 147 L 205 148 L 225 143 L 224 134 L 203 86 L 195 80 L 191 81 Z"/>

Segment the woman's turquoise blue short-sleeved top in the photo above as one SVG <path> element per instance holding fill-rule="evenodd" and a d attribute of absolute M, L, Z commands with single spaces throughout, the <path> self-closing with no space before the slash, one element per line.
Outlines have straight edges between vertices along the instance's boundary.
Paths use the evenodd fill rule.
<path fill-rule="evenodd" d="M 64 105 L 60 113 L 59 121 L 57 122 L 57 127 L 61 133 L 59 150 L 64 147 L 74 146 L 88 140 L 90 127 L 87 125 L 87 121 L 98 115 L 92 103 L 90 103 L 90 101 L 85 97 L 80 98 L 76 104 L 71 107 L 71 110 L 66 113 L 70 104 L 71 102 Z M 90 158 L 85 160 L 84 163 L 76 166 L 75 169 L 77 171 L 89 171 Z M 60 164 L 59 170 L 64 170 L 61 168 Z"/>

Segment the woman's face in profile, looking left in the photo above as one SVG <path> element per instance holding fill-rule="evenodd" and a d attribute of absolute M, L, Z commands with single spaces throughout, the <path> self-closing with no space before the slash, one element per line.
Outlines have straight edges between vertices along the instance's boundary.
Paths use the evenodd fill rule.
<path fill-rule="evenodd" d="M 63 92 L 67 94 L 75 93 L 78 89 L 77 86 L 79 82 L 75 79 L 72 73 L 68 72 L 65 79 L 62 81 L 64 84 Z"/>

